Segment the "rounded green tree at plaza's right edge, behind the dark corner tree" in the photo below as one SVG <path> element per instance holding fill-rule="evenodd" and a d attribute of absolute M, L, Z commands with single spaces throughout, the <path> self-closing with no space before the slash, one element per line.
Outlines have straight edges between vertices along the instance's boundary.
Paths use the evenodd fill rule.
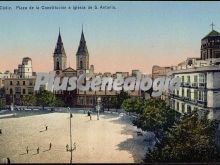
<path fill-rule="evenodd" d="M 158 140 L 163 137 L 163 132 L 173 126 L 179 116 L 161 99 L 151 98 L 144 102 L 139 99 L 135 106 L 138 117 L 133 121 L 133 124 L 144 131 L 154 132 Z"/>

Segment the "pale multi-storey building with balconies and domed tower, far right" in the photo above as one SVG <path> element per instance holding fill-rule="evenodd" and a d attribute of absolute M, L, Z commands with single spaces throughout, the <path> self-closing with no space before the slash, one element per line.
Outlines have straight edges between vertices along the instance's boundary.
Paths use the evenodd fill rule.
<path fill-rule="evenodd" d="M 172 67 L 168 76 L 181 78 L 181 87 L 170 95 L 171 108 L 187 113 L 209 112 L 210 119 L 220 119 L 220 33 L 213 30 L 201 40 L 199 58 Z"/>

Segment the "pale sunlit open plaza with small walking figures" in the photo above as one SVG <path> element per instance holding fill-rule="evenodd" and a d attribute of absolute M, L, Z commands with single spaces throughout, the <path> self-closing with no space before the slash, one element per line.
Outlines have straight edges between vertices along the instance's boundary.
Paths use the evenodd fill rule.
<path fill-rule="evenodd" d="M 28 112 L 1 118 L 0 127 L 1 163 L 7 162 L 7 157 L 11 163 L 70 162 L 71 153 L 66 151 L 66 145 L 70 144 L 69 113 Z M 73 113 L 72 137 L 76 143 L 73 163 L 141 162 L 147 150 L 145 134 L 138 136 L 126 115 L 106 113 L 97 120 L 92 114 L 90 120 L 87 114 Z"/>

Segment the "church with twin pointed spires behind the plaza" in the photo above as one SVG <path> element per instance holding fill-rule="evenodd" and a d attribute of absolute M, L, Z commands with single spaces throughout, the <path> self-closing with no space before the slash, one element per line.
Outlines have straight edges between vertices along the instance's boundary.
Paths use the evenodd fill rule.
<path fill-rule="evenodd" d="M 94 73 L 94 65 L 89 65 L 89 51 L 86 45 L 86 39 L 82 29 L 81 38 L 79 46 L 76 53 L 76 69 L 67 67 L 67 56 L 64 49 L 64 44 L 62 41 L 61 33 L 59 30 L 59 35 L 56 43 L 56 47 L 53 53 L 53 71 L 56 72 L 56 76 L 61 77 L 79 77 L 84 73 L 91 73 L 93 76 L 123 76 L 128 77 L 128 72 L 116 72 L 116 74 L 104 73 L 97 74 Z M 135 70 L 137 71 L 137 70 Z M 57 91 L 54 93 L 56 96 L 64 100 L 65 105 L 70 107 L 94 107 L 97 102 L 97 98 L 106 102 L 112 102 L 115 100 L 115 97 L 119 94 L 117 91 L 80 91 L 78 89 L 74 91 Z M 140 91 L 131 91 L 129 92 L 131 96 L 140 96 Z M 108 106 L 108 105 L 106 105 Z"/>

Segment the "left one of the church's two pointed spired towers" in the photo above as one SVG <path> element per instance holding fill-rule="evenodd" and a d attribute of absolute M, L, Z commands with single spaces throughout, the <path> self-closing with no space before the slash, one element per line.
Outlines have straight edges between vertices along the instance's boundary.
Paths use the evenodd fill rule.
<path fill-rule="evenodd" d="M 66 69 L 66 53 L 63 46 L 63 41 L 60 35 L 60 29 L 59 29 L 59 35 L 57 39 L 57 44 L 53 53 L 53 63 L 54 63 L 54 71 L 61 71 Z"/>

